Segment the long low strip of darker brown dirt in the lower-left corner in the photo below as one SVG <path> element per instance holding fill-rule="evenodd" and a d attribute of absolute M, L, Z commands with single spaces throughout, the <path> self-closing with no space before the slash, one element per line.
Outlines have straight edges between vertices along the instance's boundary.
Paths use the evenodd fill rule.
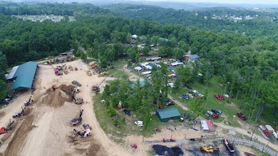
<path fill-rule="evenodd" d="M 32 111 L 30 110 L 30 112 Z M 28 132 L 35 128 L 35 125 L 32 125 L 33 120 L 33 114 L 26 116 L 26 119 L 24 119 L 23 123 L 17 128 L 14 136 L 15 139 L 10 141 L 4 155 L 18 155 L 20 148 L 24 146 L 24 140 L 26 139 Z"/>

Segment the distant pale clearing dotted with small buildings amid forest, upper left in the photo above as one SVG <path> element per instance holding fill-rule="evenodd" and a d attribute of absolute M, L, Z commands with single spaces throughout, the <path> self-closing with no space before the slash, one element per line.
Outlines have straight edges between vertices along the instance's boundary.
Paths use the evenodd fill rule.
<path fill-rule="evenodd" d="M 18 19 L 23 19 L 23 20 L 31 20 L 31 21 L 44 21 L 44 20 L 52 20 L 52 21 L 60 21 L 63 19 L 63 16 L 58 16 L 58 15 L 17 15 L 15 16 Z M 73 16 L 69 16 L 70 21 L 74 20 Z"/>

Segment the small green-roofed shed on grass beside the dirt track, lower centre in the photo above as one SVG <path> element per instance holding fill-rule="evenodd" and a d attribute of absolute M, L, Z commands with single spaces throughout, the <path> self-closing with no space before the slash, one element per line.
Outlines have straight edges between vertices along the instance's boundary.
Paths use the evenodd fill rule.
<path fill-rule="evenodd" d="M 179 120 L 181 114 L 176 108 L 166 108 L 163 110 L 156 110 L 156 116 L 161 122 L 168 122 L 172 120 Z"/>

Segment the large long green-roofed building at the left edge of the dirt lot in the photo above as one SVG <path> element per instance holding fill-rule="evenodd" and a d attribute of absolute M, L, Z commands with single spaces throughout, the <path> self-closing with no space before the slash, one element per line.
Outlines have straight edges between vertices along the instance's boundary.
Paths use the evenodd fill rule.
<path fill-rule="evenodd" d="M 15 83 L 13 84 L 12 89 L 20 90 L 31 88 L 37 67 L 38 63 L 32 61 L 19 65 L 13 76 Z"/>

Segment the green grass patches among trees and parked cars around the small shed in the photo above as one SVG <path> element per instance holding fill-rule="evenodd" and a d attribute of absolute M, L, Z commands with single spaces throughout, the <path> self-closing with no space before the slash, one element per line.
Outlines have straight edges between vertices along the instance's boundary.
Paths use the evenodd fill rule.
<path fill-rule="evenodd" d="M 113 76 L 116 78 L 124 78 L 124 79 L 128 78 L 128 74 L 124 72 L 124 69 L 122 69 L 124 67 L 124 64 L 127 64 L 127 62 L 125 62 L 125 61 L 113 62 L 113 66 L 115 67 L 115 69 L 109 69 L 109 72 L 111 74 L 113 74 Z M 135 71 L 133 69 L 129 69 L 129 70 L 131 70 L 132 73 L 135 73 L 136 75 L 139 76 L 139 73 L 137 71 Z M 142 78 L 145 78 L 145 76 L 142 76 Z M 219 83 L 222 83 L 221 78 L 219 78 L 218 76 L 213 76 L 213 78 L 211 79 L 211 82 L 207 86 L 208 96 L 207 96 L 206 101 L 202 105 L 204 107 L 203 110 L 205 112 L 207 110 L 211 110 L 212 108 L 221 110 L 222 115 L 220 116 L 219 119 L 213 120 L 213 122 L 215 122 L 217 124 L 222 121 L 229 121 L 231 126 L 241 128 L 240 123 L 238 123 L 238 117 L 236 115 L 236 112 L 242 112 L 238 108 L 238 103 L 240 103 L 241 96 L 239 94 L 238 100 L 236 100 L 235 97 L 231 98 L 229 100 L 229 103 L 228 103 L 227 98 L 225 98 L 222 101 L 218 100 L 217 98 L 214 97 L 214 95 L 221 94 L 221 93 L 224 94 L 223 92 L 224 92 L 224 87 L 225 87 L 225 86 L 218 87 Z M 197 90 L 201 94 L 205 94 L 205 92 L 206 92 L 206 87 L 204 85 L 202 85 L 201 83 L 198 83 L 197 81 L 195 81 L 195 83 L 192 83 L 189 85 L 191 87 L 193 87 L 193 89 L 191 89 L 191 90 Z M 227 87 L 227 88 L 229 88 L 229 87 Z M 171 89 L 169 89 L 168 94 L 173 96 L 176 99 L 176 101 L 179 101 L 179 102 L 183 103 L 183 105 L 185 105 L 186 107 L 189 107 L 189 103 L 190 103 L 190 101 L 192 101 L 192 98 L 190 98 L 189 101 L 179 98 L 179 96 L 181 96 L 182 94 L 186 94 L 188 91 L 189 91 L 189 89 L 187 89 L 187 88 L 181 88 L 181 91 L 179 92 L 179 94 L 176 94 L 176 93 L 172 92 Z M 229 92 L 229 90 L 227 89 L 226 92 Z M 120 121 L 120 128 L 115 128 L 115 126 L 113 125 L 112 117 L 108 116 L 108 114 L 106 113 L 106 110 L 104 109 L 104 105 L 100 103 L 100 97 L 101 97 L 101 95 L 96 96 L 95 105 L 94 105 L 97 120 L 99 121 L 101 128 L 103 128 L 103 130 L 105 132 L 107 132 L 108 134 L 113 136 L 113 139 L 117 142 L 123 142 L 123 140 L 121 138 L 125 137 L 127 135 L 142 135 L 142 136 L 147 137 L 147 136 L 153 135 L 155 133 L 154 128 L 158 128 L 159 130 L 161 130 L 161 128 L 165 128 L 168 126 L 171 127 L 171 126 L 180 124 L 179 121 L 174 121 L 174 122 L 170 122 L 170 123 L 169 122 L 161 123 L 161 121 L 159 121 L 157 116 L 155 115 L 155 112 L 152 112 L 152 121 L 150 121 L 148 128 L 145 129 L 143 132 L 140 132 L 140 129 L 143 129 L 143 128 L 138 128 L 134 124 L 135 121 L 142 120 L 142 119 L 140 119 L 140 117 L 135 116 L 134 114 L 131 116 L 125 116 L 124 112 L 122 112 L 121 110 L 117 110 L 117 117 L 118 117 L 118 120 Z M 156 107 L 156 106 L 153 105 L 153 107 Z M 164 104 L 163 104 L 163 107 L 165 107 Z M 177 110 L 179 110 L 179 112 L 181 113 L 181 117 L 183 117 L 183 114 L 186 112 L 181 107 L 179 107 L 179 105 L 171 105 L 168 107 L 177 108 Z M 269 109 L 271 109 L 271 108 L 267 107 L 265 109 L 265 111 L 268 111 Z M 189 113 L 191 113 L 191 112 L 189 112 Z M 243 112 L 243 113 L 245 113 L 245 112 Z M 266 124 L 266 123 L 269 124 L 271 121 L 271 119 L 270 119 L 271 115 L 266 115 L 266 114 L 267 113 L 263 114 L 262 121 L 264 122 L 264 124 Z M 236 118 L 237 118 L 235 121 L 233 120 L 234 115 L 236 115 Z M 247 114 L 245 114 L 245 115 L 247 116 Z M 205 117 L 203 114 L 201 116 Z M 186 120 L 185 123 L 188 124 L 189 123 L 188 120 Z M 257 123 L 250 123 L 250 125 L 254 125 L 253 128 L 255 129 L 257 126 Z M 135 129 L 135 130 L 132 130 L 132 129 Z M 261 135 L 259 130 L 255 130 L 255 134 Z M 276 142 L 276 141 L 274 141 L 274 142 Z"/>

